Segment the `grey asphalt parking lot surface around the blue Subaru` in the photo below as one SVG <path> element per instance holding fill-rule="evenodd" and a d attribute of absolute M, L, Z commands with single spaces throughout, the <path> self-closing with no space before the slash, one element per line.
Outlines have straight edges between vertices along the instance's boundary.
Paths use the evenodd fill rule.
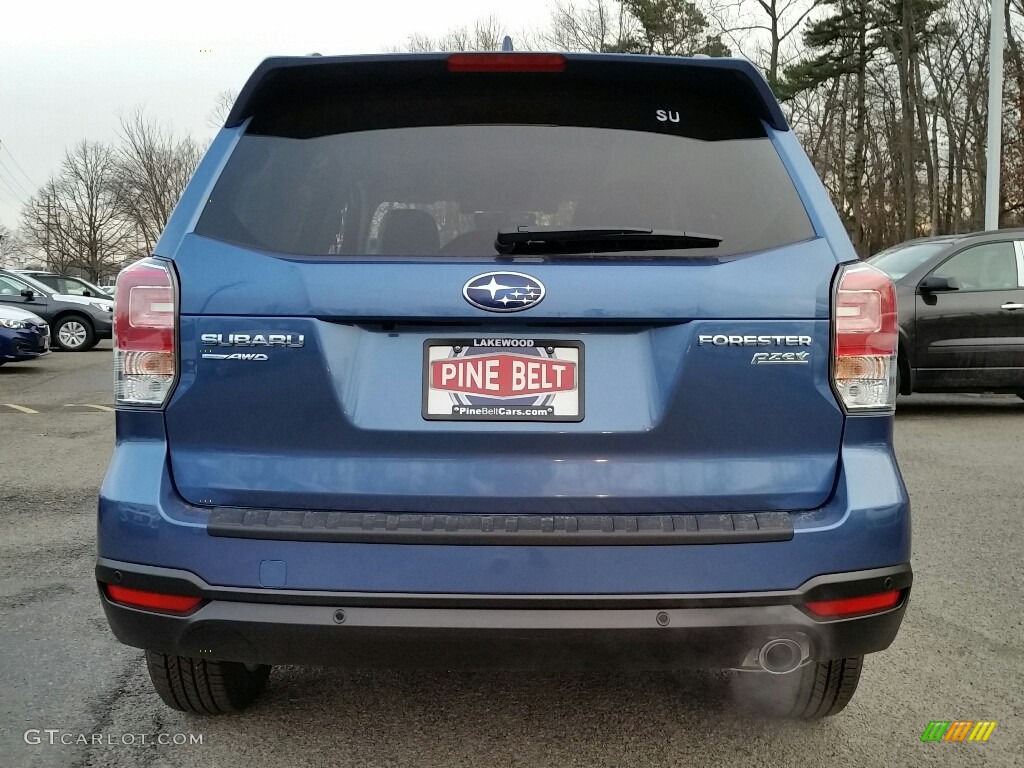
<path fill-rule="evenodd" d="M 742 715 L 728 676 L 713 672 L 298 668 L 274 670 L 246 715 L 199 719 L 159 701 L 141 651 L 115 641 L 96 597 L 94 508 L 114 440 L 111 380 L 110 342 L 0 369 L 2 765 L 1021 764 L 1017 397 L 901 398 L 896 442 L 913 503 L 913 598 L 893 647 L 868 657 L 853 703 L 823 723 Z M 957 719 L 998 725 L 982 744 L 920 740 L 929 721 Z M 42 743 L 26 742 L 29 729 Z M 58 729 L 56 743 L 45 729 Z M 157 744 L 158 733 L 202 743 Z M 79 734 L 88 743 L 60 743 L 80 742 Z"/>

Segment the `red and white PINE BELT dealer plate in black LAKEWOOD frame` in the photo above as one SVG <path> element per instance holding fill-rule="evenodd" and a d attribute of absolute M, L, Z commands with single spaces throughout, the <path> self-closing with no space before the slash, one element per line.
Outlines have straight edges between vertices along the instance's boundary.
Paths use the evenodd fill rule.
<path fill-rule="evenodd" d="M 428 339 L 423 418 L 583 421 L 583 344 L 495 337 Z"/>

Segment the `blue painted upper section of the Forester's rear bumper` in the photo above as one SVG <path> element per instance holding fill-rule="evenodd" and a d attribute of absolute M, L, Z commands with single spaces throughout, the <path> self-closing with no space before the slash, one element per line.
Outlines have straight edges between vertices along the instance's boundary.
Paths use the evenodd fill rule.
<path fill-rule="evenodd" d="M 657 515 L 646 516 L 641 530 L 637 515 L 636 531 L 628 525 L 622 532 L 584 531 L 578 521 L 579 529 L 571 535 L 567 527 L 564 535 L 555 527 L 562 520 L 541 516 L 541 523 L 551 523 L 553 529 L 536 536 L 521 525 L 509 534 L 506 519 L 505 536 L 487 534 L 485 541 L 478 541 L 474 528 L 449 531 L 447 519 L 443 531 L 435 519 L 434 531 L 424 531 L 421 524 L 414 535 L 403 527 L 400 515 L 394 520 L 390 515 L 364 515 L 355 536 L 340 523 L 332 527 L 333 518 L 349 517 L 346 514 L 331 513 L 321 526 L 315 515 L 288 513 L 270 530 L 269 514 L 262 520 L 254 511 L 264 530 L 258 530 L 259 525 L 229 530 L 223 520 L 218 523 L 216 508 L 190 505 L 177 493 L 163 413 L 122 411 L 118 444 L 100 489 L 98 554 L 188 571 L 224 588 L 303 594 L 585 597 L 794 590 L 822 573 L 910 561 L 910 509 L 892 454 L 891 422 L 878 417 L 847 420 L 831 499 L 815 510 L 785 513 L 793 532 L 781 540 L 753 539 L 753 534 L 762 534 L 757 514 L 757 531 L 740 529 L 750 526 L 735 519 L 750 522 L 750 515 L 732 515 L 731 530 L 714 530 L 707 523 L 729 516 L 701 514 L 695 531 L 687 524 L 693 516 L 686 515 L 671 518 L 671 530 Z M 211 454 L 210 461 L 216 462 L 217 454 Z M 499 506 L 494 511 L 502 510 Z M 492 521 L 497 534 L 497 518 Z M 461 526 L 463 520 L 457 522 Z M 478 522 L 482 531 L 484 521 Z M 648 523 L 654 529 L 648 530 Z M 339 531 L 345 536 L 339 537 Z M 250 538 L 257 532 L 259 538 Z"/>

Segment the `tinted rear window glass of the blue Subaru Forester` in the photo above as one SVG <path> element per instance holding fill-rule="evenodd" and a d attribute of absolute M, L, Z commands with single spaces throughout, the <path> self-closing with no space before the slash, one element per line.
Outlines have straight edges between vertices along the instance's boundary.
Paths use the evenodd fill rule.
<path fill-rule="evenodd" d="M 498 230 L 516 226 L 722 239 L 643 257 L 731 256 L 814 234 L 763 126 L 728 104 L 700 111 L 636 88 L 367 90 L 254 117 L 197 233 L 339 257 L 492 256 Z"/>

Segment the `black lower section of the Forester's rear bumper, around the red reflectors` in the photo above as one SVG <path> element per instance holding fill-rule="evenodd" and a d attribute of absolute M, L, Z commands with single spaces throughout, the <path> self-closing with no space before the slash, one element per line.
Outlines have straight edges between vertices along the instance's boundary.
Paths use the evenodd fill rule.
<path fill-rule="evenodd" d="M 909 564 L 816 577 L 796 590 L 692 595 L 430 595 L 214 587 L 172 568 L 100 558 L 111 628 L 140 648 L 251 664 L 528 669 L 752 668 L 775 638 L 816 660 L 883 650 Z M 204 602 L 170 615 L 112 602 L 104 585 Z M 820 621 L 803 604 L 900 590 L 896 607 Z"/>

